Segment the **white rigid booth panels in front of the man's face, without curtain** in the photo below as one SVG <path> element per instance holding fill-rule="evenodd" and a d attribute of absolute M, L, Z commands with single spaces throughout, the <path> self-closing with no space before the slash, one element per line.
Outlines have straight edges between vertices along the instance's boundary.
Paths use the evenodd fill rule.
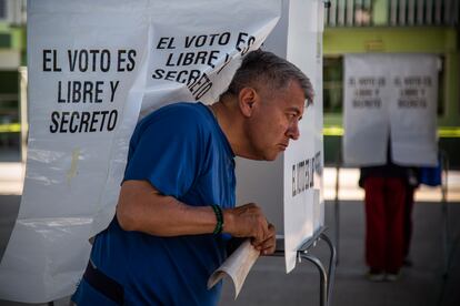
<path fill-rule="evenodd" d="M 299 67 L 314 90 L 299 122 L 300 139 L 274 162 L 237 160 L 238 203 L 261 205 L 277 234 L 284 236 L 287 271 L 297 249 L 324 223 L 322 195 L 322 1 L 283 1 L 281 19 L 263 49 Z"/>

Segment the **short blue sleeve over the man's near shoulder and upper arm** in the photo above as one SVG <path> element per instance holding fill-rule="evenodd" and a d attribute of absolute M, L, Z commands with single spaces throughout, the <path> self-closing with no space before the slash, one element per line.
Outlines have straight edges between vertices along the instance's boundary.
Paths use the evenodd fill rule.
<path fill-rule="evenodd" d="M 124 181 L 147 180 L 162 194 L 179 198 L 206 169 L 209 135 L 194 110 L 161 110 L 134 135 Z"/>

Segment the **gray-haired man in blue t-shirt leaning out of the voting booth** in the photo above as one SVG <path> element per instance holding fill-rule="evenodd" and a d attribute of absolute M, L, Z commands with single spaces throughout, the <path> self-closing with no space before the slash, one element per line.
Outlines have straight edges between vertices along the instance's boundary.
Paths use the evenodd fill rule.
<path fill-rule="evenodd" d="M 249 203 L 234 207 L 234 155 L 272 161 L 290 140 L 308 78 L 270 52 L 250 52 L 210 106 L 176 103 L 137 126 L 117 214 L 96 237 L 73 295 L 78 305 L 217 305 L 208 277 L 231 237 L 274 252 L 274 227 Z"/>

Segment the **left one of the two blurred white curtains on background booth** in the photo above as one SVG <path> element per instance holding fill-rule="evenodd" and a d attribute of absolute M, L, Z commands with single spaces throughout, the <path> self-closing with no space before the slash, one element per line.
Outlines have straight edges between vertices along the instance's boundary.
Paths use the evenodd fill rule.
<path fill-rule="evenodd" d="M 344 57 L 343 161 L 349 165 L 387 161 L 389 71 L 378 59 L 374 54 Z"/>

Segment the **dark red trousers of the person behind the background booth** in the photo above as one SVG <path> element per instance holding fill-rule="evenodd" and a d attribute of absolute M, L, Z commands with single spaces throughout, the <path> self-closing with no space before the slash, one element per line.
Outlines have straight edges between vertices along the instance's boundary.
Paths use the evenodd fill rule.
<path fill-rule="evenodd" d="M 367 177 L 366 261 L 369 267 L 398 273 L 404 257 L 406 183 L 399 177 Z"/>

